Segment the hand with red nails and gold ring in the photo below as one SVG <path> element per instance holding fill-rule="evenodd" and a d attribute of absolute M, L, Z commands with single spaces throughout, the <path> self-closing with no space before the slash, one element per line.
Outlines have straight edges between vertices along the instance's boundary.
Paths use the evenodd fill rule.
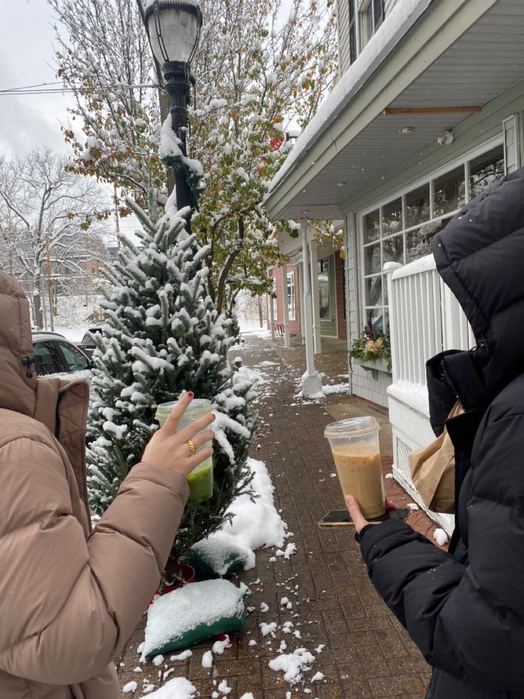
<path fill-rule="evenodd" d="M 193 400 L 193 395 L 189 392 L 180 398 L 164 427 L 157 430 L 151 437 L 145 447 L 142 461 L 168 468 L 182 476 L 189 476 L 194 468 L 213 455 L 212 447 L 206 447 L 192 454 L 188 440 L 192 440 L 196 449 L 214 440 L 213 430 L 206 430 L 206 427 L 215 419 L 214 415 L 204 415 L 203 418 L 195 420 L 187 428 L 177 432 L 180 418 Z"/>

